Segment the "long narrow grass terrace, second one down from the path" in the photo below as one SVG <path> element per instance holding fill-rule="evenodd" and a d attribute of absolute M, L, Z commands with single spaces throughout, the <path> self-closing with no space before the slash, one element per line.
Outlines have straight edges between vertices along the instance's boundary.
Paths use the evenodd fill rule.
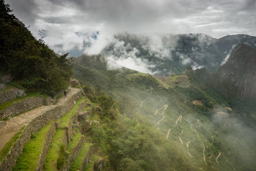
<path fill-rule="evenodd" d="M 85 97 L 82 97 L 80 100 L 76 102 L 76 105 L 61 117 L 61 124 L 60 128 L 56 130 L 56 133 L 53 137 L 52 143 L 50 145 L 50 149 L 48 151 L 48 154 L 46 155 L 46 161 L 44 164 L 43 170 L 46 171 L 54 171 L 57 170 L 57 158 L 59 155 L 60 150 L 60 144 L 62 142 L 63 134 L 65 133 L 65 126 L 67 126 L 70 118 L 72 115 L 76 113 L 76 109 L 79 107 L 79 105 L 85 100 Z"/>

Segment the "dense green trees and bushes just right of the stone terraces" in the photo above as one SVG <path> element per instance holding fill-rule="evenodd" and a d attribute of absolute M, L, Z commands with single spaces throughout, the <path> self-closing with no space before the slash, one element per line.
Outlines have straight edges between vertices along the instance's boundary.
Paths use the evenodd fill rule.
<path fill-rule="evenodd" d="M 191 163 L 178 153 L 160 132 L 148 123 L 138 122 L 119 113 L 117 104 L 110 96 L 97 96 L 85 87 L 86 94 L 98 103 L 102 111 L 100 125 L 87 130 L 108 158 L 112 169 L 117 171 L 175 171 L 189 170 Z M 87 135 L 87 136 L 88 136 Z M 107 166 L 104 166 L 107 167 Z"/>

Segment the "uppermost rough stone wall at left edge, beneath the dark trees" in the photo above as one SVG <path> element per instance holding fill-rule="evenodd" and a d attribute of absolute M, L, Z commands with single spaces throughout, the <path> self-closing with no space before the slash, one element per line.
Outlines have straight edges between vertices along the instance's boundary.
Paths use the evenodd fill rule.
<path fill-rule="evenodd" d="M 13 88 L 4 92 L 0 92 L 0 104 L 8 102 L 16 97 L 26 96 L 26 92 L 18 88 Z"/>

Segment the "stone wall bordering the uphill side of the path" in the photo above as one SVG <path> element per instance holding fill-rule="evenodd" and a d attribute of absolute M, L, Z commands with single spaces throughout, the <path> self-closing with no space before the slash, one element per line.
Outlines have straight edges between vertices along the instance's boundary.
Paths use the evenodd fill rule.
<path fill-rule="evenodd" d="M 0 111 L 0 119 L 14 116 L 27 110 L 43 105 L 43 96 L 27 98 L 21 102 L 13 103 L 11 106 Z"/>

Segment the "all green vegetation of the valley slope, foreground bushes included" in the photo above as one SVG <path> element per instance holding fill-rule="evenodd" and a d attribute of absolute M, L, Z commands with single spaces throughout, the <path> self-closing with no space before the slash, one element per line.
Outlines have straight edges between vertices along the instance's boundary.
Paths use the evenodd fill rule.
<path fill-rule="evenodd" d="M 249 125 L 255 115 L 251 110 L 255 108 L 254 100 L 230 100 L 223 96 L 221 90 L 215 90 L 204 82 L 207 75 L 202 77 L 198 73 L 161 78 L 154 76 L 157 78 L 154 79 L 148 74 L 143 75 L 127 68 L 109 71 L 100 55 L 82 56 L 75 61 L 78 65 L 73 68 L 74 78 L 87 85 L 84 91 L 88 98 L 93 103 L 98 103 L 102 109 L 97 112 L 101 124 L 87 129 L 87 137 L 90 136 L 102 150 L 103 156 L 107 156 L 112 169 L 186 170 L 189 167 L 195 170 L 232 170 L 233 167 L 245 167 L 241 162 L 241 152 L 232 146 L 229 139 L 237 136 L 234 121 L 228 119 L 228 115 L 223 118 L 215 113 L 223 111 L 230 116 L 239 116 L 240 112 L 249 113 L 242 115 Z M 163 78 L 166 80 L 162 80 Z M 174 85 L 166 86 L 168 81 Z M 203 106 L 194 105 L 193 100 L 202 100 Z M 168 107 L 162 120 L 162 107 L 165 104 Z M 233 110 L 229 111 L 226 107 Z M 158 112 L 153 115 L 156 109 Z M 119 112 L 124 115 L 119 115 Z M 182 119 L 178 120 L 180 115 Z M 89 119 L 93 120 L 93 117 L 92 114 Z M 239 133 L 240 136 L 243 134 Z M 186 146 L 189 141 L 191 158 Z M 202 159 L 203 144 L 207 165 Z M 217 163 L 219 152 L 221 156 Z M 211 154 L 213 156 L 210 158 Z"/>

